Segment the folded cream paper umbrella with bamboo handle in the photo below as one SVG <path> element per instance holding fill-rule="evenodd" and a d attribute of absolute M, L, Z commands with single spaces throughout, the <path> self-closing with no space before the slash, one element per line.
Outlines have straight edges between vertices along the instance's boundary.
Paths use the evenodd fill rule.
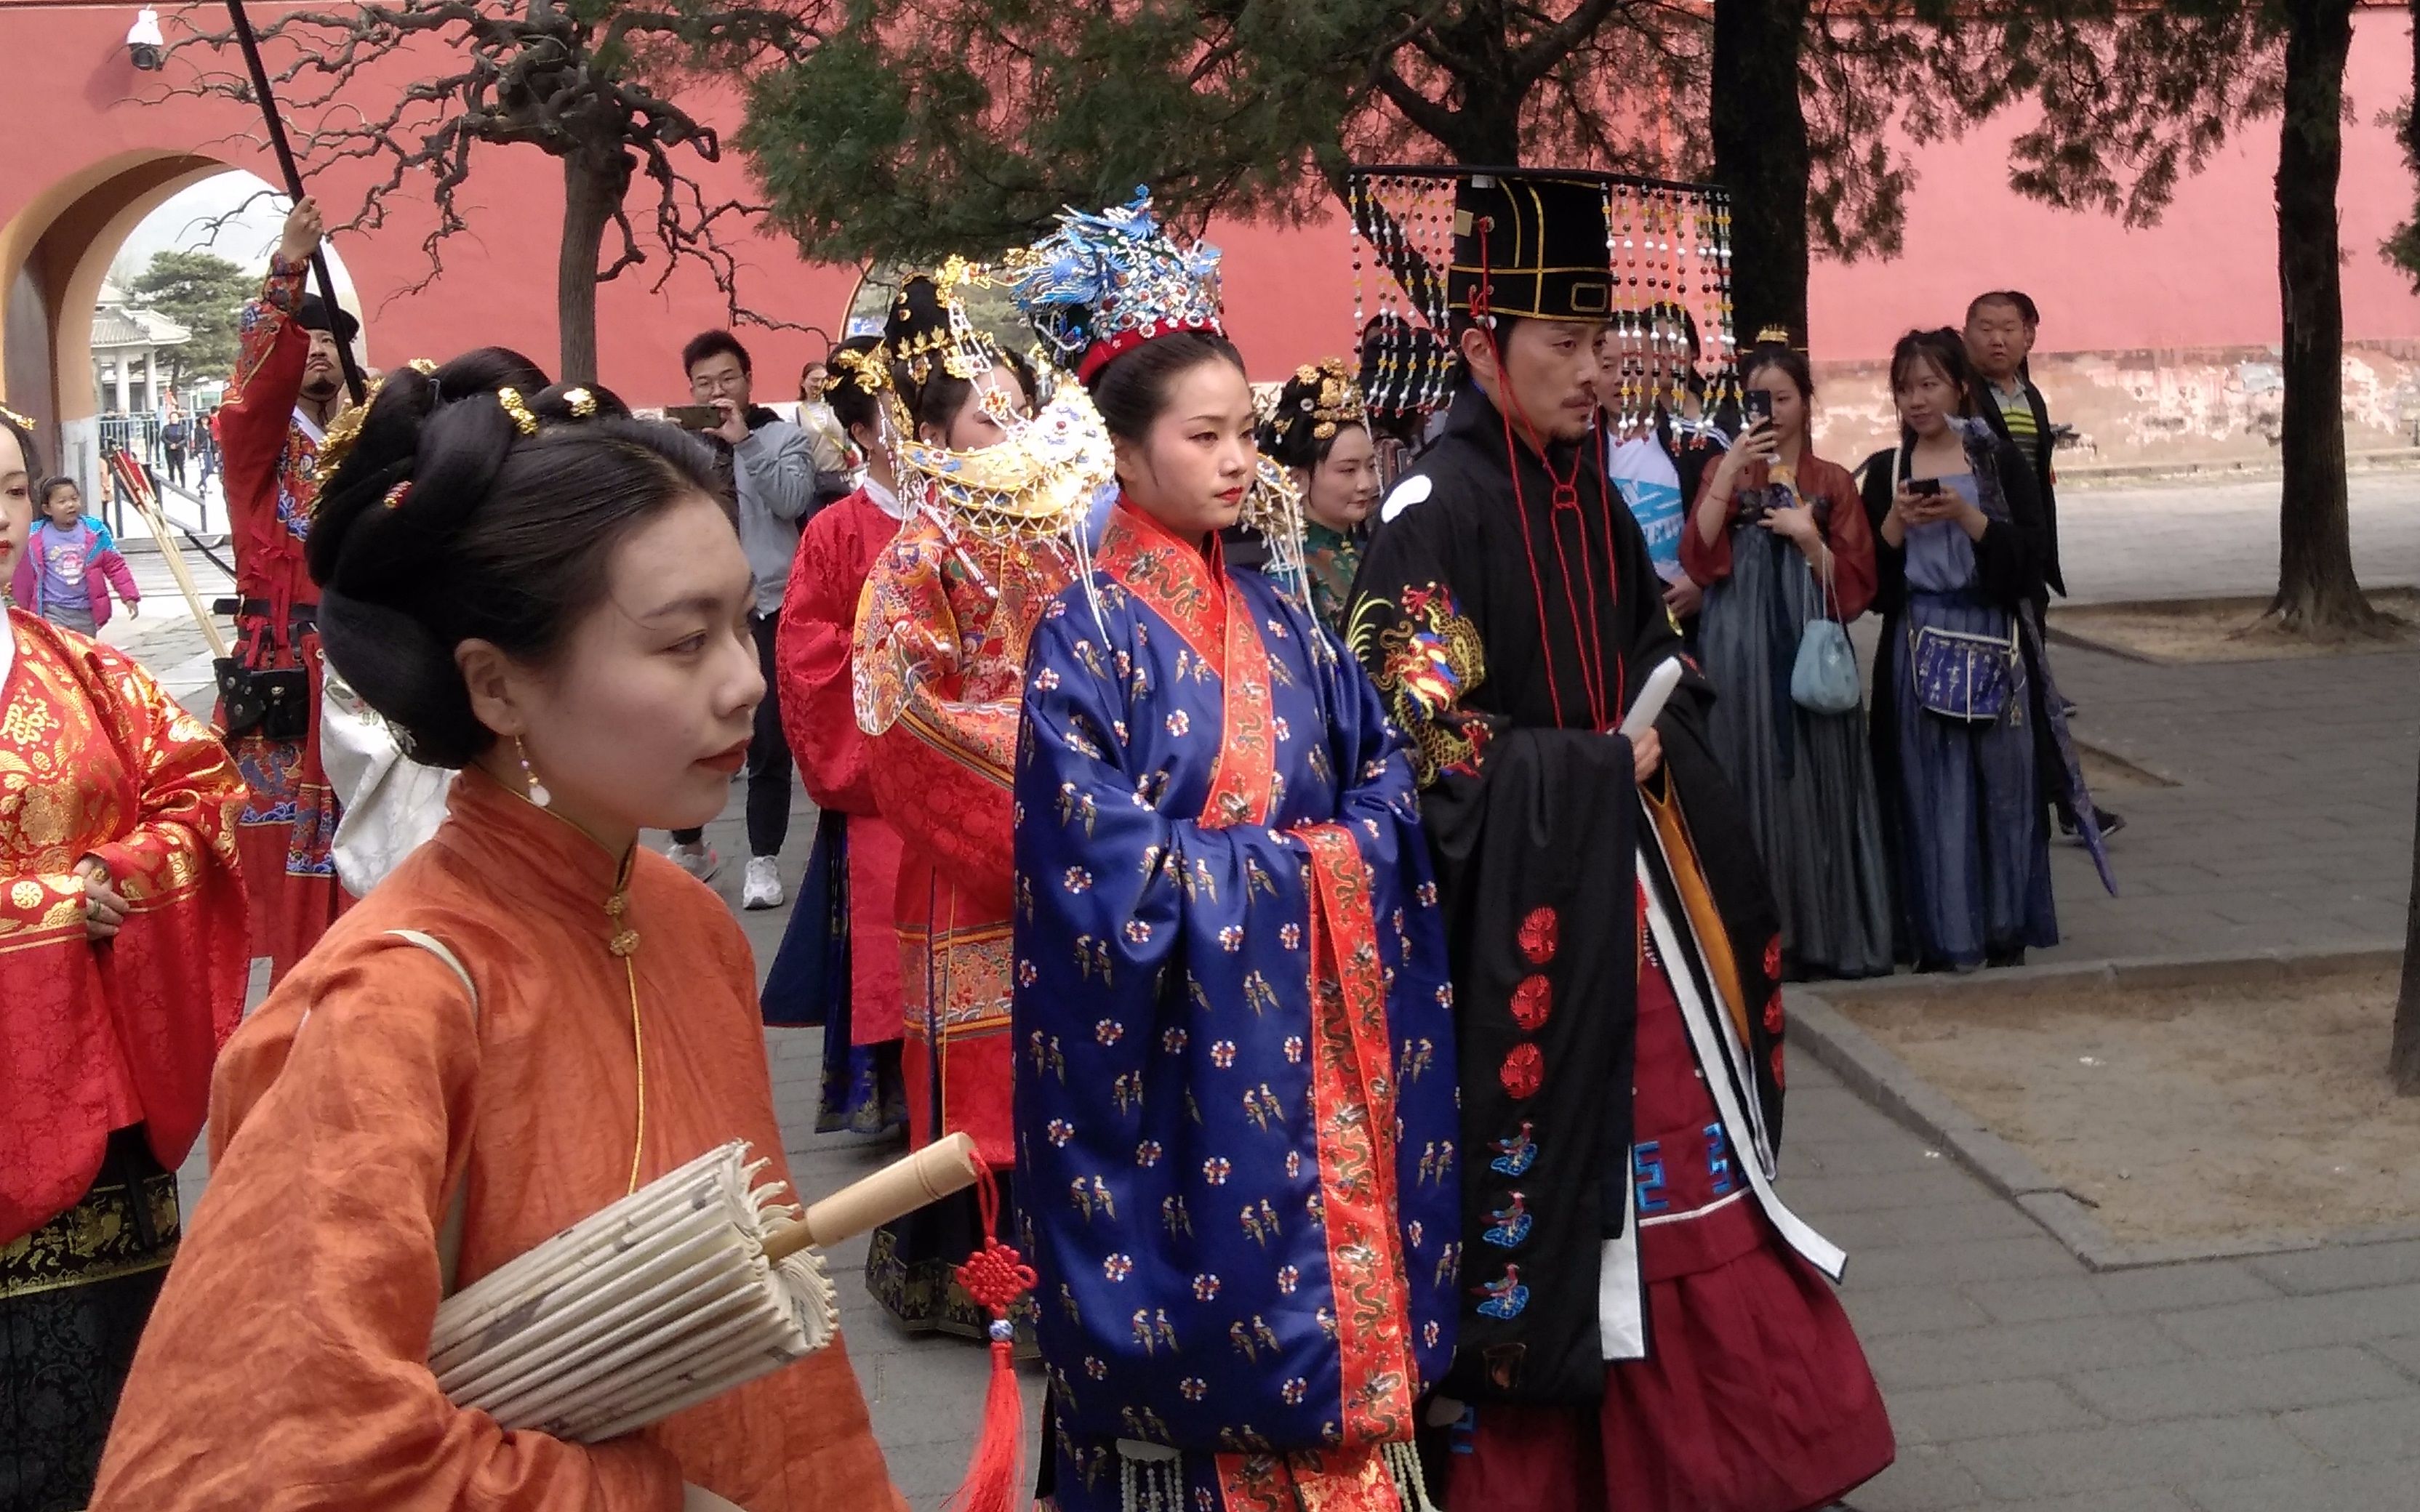
<path fill-rule="evenodd" d="M 501 1427 L 593 1444 L 820 1350 L 840 1302 L 813 1246 L 975 1181 L 966 1135 L 803 1214 L 748 1142 L 709 1149 L 438 1306 L 428 1369 Z"/>

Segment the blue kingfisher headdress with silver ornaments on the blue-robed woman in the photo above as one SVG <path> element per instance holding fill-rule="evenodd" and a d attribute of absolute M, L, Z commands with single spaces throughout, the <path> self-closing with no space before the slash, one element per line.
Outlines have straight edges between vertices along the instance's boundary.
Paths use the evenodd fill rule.
<path fill-rule="evenodd" d="M 1217 247 L 1179 244 L 1152 213 L 1152 191 L 1099 215 L 1060 210 L 1055 232 L 999 269 L 1009 298 L 1053 356 L 1089 380 L 1154 336 L 1220 327 Z"/>

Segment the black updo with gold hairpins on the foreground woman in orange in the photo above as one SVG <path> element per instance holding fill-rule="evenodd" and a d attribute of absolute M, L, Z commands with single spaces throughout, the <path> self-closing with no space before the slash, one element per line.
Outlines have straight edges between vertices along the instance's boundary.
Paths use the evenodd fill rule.
<path fill-rule="evenodd" d="M 544 660 L 605 598 L 622 537 L 690 494 L 719 496 L 704 443 L 629 419 L 595 385 L 547 387 L 501 346 L 399 368 L 319 489 L 305 544 L 319 639 L 407 755 L 465 767 L 496 735 L 469 709 L 455 648 L 482 639 Z"/>

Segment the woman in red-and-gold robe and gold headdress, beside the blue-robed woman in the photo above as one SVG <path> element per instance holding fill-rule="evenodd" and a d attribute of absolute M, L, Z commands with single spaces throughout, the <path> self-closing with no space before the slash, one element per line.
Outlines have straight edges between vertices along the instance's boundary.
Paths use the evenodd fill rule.
<path fill-rule="evenodd" d="M 1065 513 L 1077 501 L 1036 489 L 1031 455 L 1002 445 L 999 416 L 1031 411 L 1033 382 L 932 281 L 900 290 L 883 348 L 915 503 L 876 554 L 852 656 L 866 774 L 903 842 L 908 1142 L 966 1130 L 1007 1171 L 1016 702 L 1033 622 L 1074 578 Z M 999 1231 L 1014 1234 L 1021 1195 L 1002 1183 L 1002 1200 Z M 953 1277 L 980 1246 L 973 1193 L 934 1202 L 874 1231 L 866 1287 L 903 1328 L 987 1338 L 990 1314 Z"/>

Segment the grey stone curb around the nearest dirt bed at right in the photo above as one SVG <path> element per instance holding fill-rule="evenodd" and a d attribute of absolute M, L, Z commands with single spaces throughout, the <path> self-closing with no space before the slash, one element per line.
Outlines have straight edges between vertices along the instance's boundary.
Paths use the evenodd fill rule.
<path fill-rule="evenodd" d="M 2207 982 L 2224 973 L 2236 982 L 2294 982 L 2335 970 L 2398 968 L 2403 946 L 2352 951 L 2260 951 L 2253 956 L 2144 956 L 2134 960 L 2079 960 L 2057 965 L 2018 965 L 1975 977 L 1905 975 L 1873 982 L 1822 982 L 1784 987 L 1793 1052 L 1815 1057 L 1856 1096 L 1900 1120 L 1929 1144 L 1965 1164 L 1984 1185 L 2026 1210 L 2052 1239 L 2064 1243 L 2093 1270 L 2134 1270 L 2183 1260 L 2222 1260 L 2238 1256 L 2275 1256 L 2355 1243 L 2393 1243 L 2420 1239 L 2420 1222 L 2379 1224 L 2328 1236 L 2292 1239 L 2180 1239 L 2163 1243 L 2120 1243 L 2093 1214 L 2093 1207 L 2035 1166 L 2026 1152 L 1987 1130 L 1972 1113 L 1953 1103 L 1880 1040 L 1849 1021 L 1834 999 L 1890 997 L 1897 992 L 1958 992 L 1972 987 L 2006 997 L 2009 992 L 2072 992 L 2081 985 L 2176 987 Z"/>

